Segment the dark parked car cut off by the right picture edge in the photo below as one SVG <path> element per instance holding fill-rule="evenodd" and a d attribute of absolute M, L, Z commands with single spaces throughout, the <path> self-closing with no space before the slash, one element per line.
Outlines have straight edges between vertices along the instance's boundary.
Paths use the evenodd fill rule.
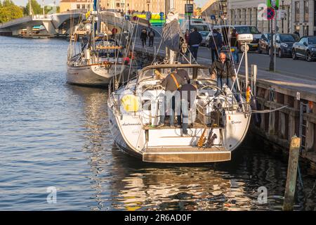
<path fill-rule="evenodd" d="M 316 59 L 316 36 L 302 37 L 293 44 L 292 58 L 305 58 L 308 62 Z"/>

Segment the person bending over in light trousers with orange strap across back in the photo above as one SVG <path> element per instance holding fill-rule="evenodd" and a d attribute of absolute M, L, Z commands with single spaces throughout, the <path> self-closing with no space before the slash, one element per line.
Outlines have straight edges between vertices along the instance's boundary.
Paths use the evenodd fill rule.
<path fill-rule="evenodd" d="M 174 115 L 176 110 L 176 94 L 178 94 L 178 90 L 180 87 L 185 84 L 185 79 L 178 75 L 176 72 L 171 72 L 166 78 L 162 81 L 162 86 L 165 88 L 165 94 L 164 94 L 164 100 L 163 100 L 163 106 L 162 106 L 162 112 L 160 115 L 160 121 L 158 124 L 158 127 L 164 126 L 164 117 L 166 115 L 166 111 L 169 112 L 169 123 L 170 127 L 174 127 Z M 178 96 L 180 97 L 180 96 Z M 179 105 L 179 102 L 177 102 L 177 106 Z M 180 107 L 177 108 L 177 111 L 180 110 Z M 180 121 L 179 121 L 180 116 Z M 178 113 L 178 127 L 180 127 L 181 122 L 181 115 Z"/>

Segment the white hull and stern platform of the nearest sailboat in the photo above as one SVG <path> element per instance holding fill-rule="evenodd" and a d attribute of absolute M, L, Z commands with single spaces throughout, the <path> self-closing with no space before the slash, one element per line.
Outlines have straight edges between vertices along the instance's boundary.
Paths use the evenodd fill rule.
<path fill-rule="evenodd" d="M 193 134 L 192 137 L 181 136 L 182 129 L 150 129 L 145 131 L 141 128 L 136 117 L 120 115 L 118 112 L 115 113 L 110 98 L 107 110 L 114 143 L 124 152 L 140 158 L 143 162 L 205 163 L 229 161 L 231 160 L 232 150 L 235 150 L 244 140 L 250 122 L 250 117 L 246 118 L 242 122 L 244 126 L 242 128 L 239 127 L 239 131 L 242 131 L 243 134 L 235 137 L 233 133 L 235 133 L 237 127 L 232 127 L 232 124 L 235 124 L 236 120 L 242 120 L 241 118 L 244 115 L 240 115 L 240 117 L 239 115 L 234 115 L 234 119 L 229 118 L 232 115 L 228 115 L 229 131 L 213 130 L 214 134 L 227 137 L 225 146 L 220 146 L 219 143 L 216 143 L 216 146 L 211 148 L 197 148 L 196 143 L 204 129 L 190 129 Z M 146 132 L 147 136 L 149 136 L 147 141 L 145 141 Z M 193 143 L 193 146 L 190 143 Z"/>

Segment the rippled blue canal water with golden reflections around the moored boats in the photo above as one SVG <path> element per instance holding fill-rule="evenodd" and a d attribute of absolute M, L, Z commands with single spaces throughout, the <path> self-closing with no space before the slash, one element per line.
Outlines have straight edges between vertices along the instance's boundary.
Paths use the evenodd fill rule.
<path fill-rule="evenodd" d="M 66 84 L 67 41 L 0 46 L 0 210 L 282 210 L 287 160 L 251 132 L 230 162 L 140 162 L 112 141 L 107 90 Z M 304 174 L 294 208 L 316 210 Z"/>

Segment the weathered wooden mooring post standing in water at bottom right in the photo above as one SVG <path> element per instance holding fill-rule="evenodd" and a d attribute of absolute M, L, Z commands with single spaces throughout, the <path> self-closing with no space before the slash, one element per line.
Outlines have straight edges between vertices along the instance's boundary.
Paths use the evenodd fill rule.
<path fill-rule="evenodd" d="M 301 145 L 301 139 L 298 138 L 297 136 L 293 136 L 291 138 L 290 149 L 289 149 L 289 165 L 287 167 L 287 184 L 285 186 L 284 203 L 283 203 L 284 211 L 293 210 L 300 145 Z"/>

